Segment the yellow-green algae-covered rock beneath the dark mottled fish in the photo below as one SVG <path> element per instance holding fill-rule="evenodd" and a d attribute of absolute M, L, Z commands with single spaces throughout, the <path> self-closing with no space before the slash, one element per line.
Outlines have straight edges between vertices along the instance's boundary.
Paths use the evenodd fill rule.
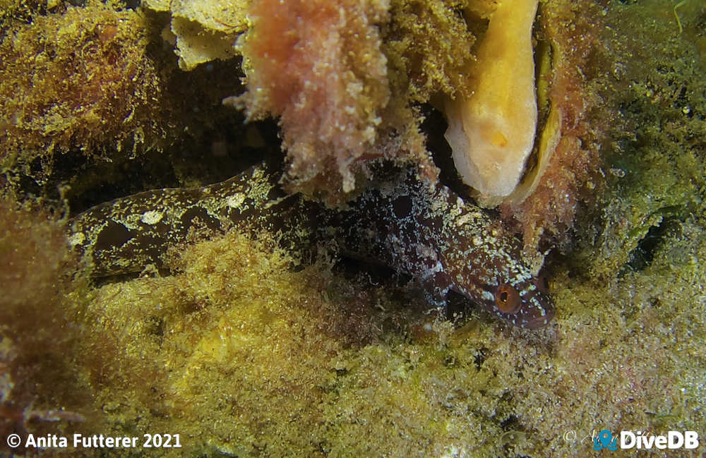
<path fill-rule="evenodd" d="M 81 370 L 104 433 L 171 431 L 193 454 L 585 456 L 563 433 L 705 424 L 699 234 L 685 224 L 608 287 L 559 275 L 539 332 L 429 320 L 404 294 L 291 272 L 228 234 L 189 248 L 174 277 L 98 289 Z"/>

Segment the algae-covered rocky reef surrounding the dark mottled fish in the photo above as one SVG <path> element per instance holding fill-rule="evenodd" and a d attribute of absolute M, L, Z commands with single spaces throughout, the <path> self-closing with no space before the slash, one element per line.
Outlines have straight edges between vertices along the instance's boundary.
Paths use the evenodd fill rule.
<path fill-rule="evenodd" d="M 233 54 L 245 60 L 223 42 L 250 26 L 242 11 L 291 28 L 316 8 L 76 3 L 0 3 L 0 454 L 12 433 L 179 434 L 181 449 L 13 449 L 136 457 L 583 457 L 603 429 L 704 437 L 702 2 L 540 2 L 540 129 L 561 138 L 527 200 L 498 212 L 528 255 L 546 253 L 556 318 L 534 331 L 459 296 L 450 317 L 429 313 L 412 279 L 368 263 L 324 253 L 292 269 L 267 234 L 192 234 L 169 272 L 112 279 L 90 277 L 66 241 L 78 212 L 226 179 L 280 155 L 278 135 L 298 145 L 294 163 L 316 166 L 292 169 L 288 186 L 330 202 L 365 185 L 373 157 L 453 182 L 436 97 L 468 95 L 459 71 L 492 2 L 329 2 L 345 12 L 319 10 L 340 40 L 314 47 L 314 33 L 294 68 L 345 84 L 323 99 L 302 89 L 292 106 L 266 91 L 301 73 L 268 80 L 280 67 L 248 56 L 276 40 L 244 35 Z M 350 60 L 327 66 L 341 49 Z M 386 70 L 364 71 L 373 65 Z M 244 92 L 253 84 L 266 97 Z M 341 111 L 346 94 L 357 104 Z M 222 105 L 232 96 L 251 122 Z M 310 108 L 323 115 L 306 118 Z M 279 126 L 254 121 L 268 115 Z M 333 120 L 349 135 L 327 130 Z M 331 145 L 343 156 L 326 156 Z"/>

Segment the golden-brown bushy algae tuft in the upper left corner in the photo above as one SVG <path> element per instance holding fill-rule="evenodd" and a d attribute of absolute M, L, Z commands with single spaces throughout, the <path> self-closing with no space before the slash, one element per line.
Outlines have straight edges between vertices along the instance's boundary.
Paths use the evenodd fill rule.
<path fill-rule="evenodd" d="M 0 42 L 0 164 L 42 181 L 54 155 L 143 150 L 160 135 L 147 22 L 90 2 L 12 25 Z M 40 160 L 43 167 L 32 169 Z M 36 167 L 34 167 L 36 169 Z"/>

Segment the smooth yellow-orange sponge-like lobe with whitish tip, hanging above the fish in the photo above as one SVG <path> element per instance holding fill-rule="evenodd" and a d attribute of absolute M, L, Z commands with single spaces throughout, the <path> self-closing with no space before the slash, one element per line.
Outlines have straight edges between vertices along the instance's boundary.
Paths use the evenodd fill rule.
<path fill-rule="evenodd" d="M 501 1 L 467 68 L 471 96 L 445 104 L 456 169 L 479 191 L 481 205 L 496 205 L 513 192 L 534 145 L 536 13 L 537 0 Z"/>

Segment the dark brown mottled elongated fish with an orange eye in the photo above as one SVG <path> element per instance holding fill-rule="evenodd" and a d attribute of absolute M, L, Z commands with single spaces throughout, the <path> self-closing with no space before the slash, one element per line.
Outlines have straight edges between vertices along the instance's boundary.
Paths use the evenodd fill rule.
<path fill-rule="evenodd" d="M 73 218 L 69 240 L 95 277 L 161 267 L 169 246 L 202 227 L 269 231 L 294 250 L 334 241 L 353 257 L 412 275 L 435 306 L 452 289 L 513 325 L 549 323 L 553 302 L 523 263 L 514 234 L 441 183 L 423 183 L 412 169 L 388 169 L 378 186 L 330 208 L 287 193 L 280 169 L 262 164 L 203 188 L 146 191 L 97 205 Z"/>

